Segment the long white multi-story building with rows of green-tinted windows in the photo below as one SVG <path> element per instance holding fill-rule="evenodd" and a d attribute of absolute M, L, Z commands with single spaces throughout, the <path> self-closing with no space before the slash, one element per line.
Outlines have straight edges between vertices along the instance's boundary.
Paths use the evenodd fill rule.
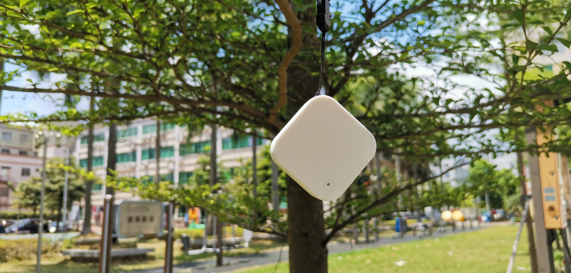
<path fill-rule="evenodd" d="M 120 126 L 116 145 L 116 171 L 119 176 L 134 178 L 147 177 L 154 180 L 156 174 L 156 121 L 140 119 L 128 126 Z M 171 123 L 161 123 L 159 174 L 161 180 L 172 183 L 184 183 L 198 167 L 198 157 L 210 150 L 210 127 L 204 127 L 202 133 L 188 138 L 186 127 Z M 100 178 L 106 177 L 109 127 L 98 126 L 94 130 L 93 171 Z M 259 148 L 266 143 L 265 139 L 257 139 Z M 252 137 L 247 134 L 234 134 L 225 128 L 216 130 L 218 160 L 224 167 L 238 167 L 242 159 L 252 158 Z M 87 131 L 76 142 L 75 157 L 82 167 L 87 167 Z M 91 204 L 103 206 L 105 186 L 94 184 Z M 116 199 L 136 198 L 129 192 L 116 192 Z"/>

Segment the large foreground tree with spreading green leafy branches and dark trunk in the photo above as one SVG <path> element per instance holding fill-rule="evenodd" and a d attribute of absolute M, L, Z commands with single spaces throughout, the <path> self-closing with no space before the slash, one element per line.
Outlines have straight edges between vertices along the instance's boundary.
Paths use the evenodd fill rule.
<path fill-rule="evenodd" d="M 569 124 L 569 108 L 552 102 L 571 97 L 571 63 L 554 64 L 552 75 L 534 72 L 549 68 L 538 58 L 571 45 L 568 1 L 331 3 L 321 91 L 373 133 L 378 152 L 418 162 L 568 149 L 567 135 L 542 147 L 513 140 L 522 127 Z M 90 97 L 97 103 L 93 111 L 10 114 L 0 118 L 3 122 L 159 117 L 179 124 L 215 123 L 241 133 L 258 129 L 271 139 L 320 91 L 315 1 L 2 0 L 0 18 L 0 58 L 22 67 L 4 72 L 0 84 L 23 70 L 66 75 L 47 88 L 32 81 L 3 89 Z M 490 129 L 498 136 L 490 137 Z M 377 195 L 367 194 L 367 202 L 351 214 L 332 214 L 332 226 L 320 216 L 323 203 L 288 177 L 287 228 L 262 199 L 248 208 L 228 205 L 248 215 L 256 210 L 275 216 L 277 227 L 244 226 L 288 235 L 290 254 L 297 255 L 290 255 L 292 272 L 324 272 L 324 246 L 336 231 L 433 178 L 390 183 Z M 147 196 L 184 199 L 193 192 L 199 193 L 161 186 Z M 188 202 L 204 200 L 207 192 Z M 363 198 L 364 192 L 357 188 L 356 196 Z M 224 198 L 230 197 L 219 196 L 214 204 L 227 204 L 231 199 Z M 344 200 L 356 199 L 349 192 Z M 323 227 L 331 227 L 330 233 L 324 235 Z"/>

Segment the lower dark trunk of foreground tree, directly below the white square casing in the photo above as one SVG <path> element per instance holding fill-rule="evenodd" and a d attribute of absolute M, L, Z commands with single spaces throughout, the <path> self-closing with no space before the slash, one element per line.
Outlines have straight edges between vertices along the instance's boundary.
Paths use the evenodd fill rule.
<path fill-rule="evenodd" d="M 327 273 L 323 201 L 286 176 L 290 273 Z"/>

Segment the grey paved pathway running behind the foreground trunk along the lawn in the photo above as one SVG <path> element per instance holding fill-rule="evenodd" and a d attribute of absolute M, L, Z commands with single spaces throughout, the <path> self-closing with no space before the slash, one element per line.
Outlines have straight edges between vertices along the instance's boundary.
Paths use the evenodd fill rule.
<path fill-rule="evenodd" d="M 455 232 L 447 231 L 444 233 L 433 232 L 432 236 L 429 238 L 437 238 L 440 236 L 447 236 L 456 234 L 459 232 L 465 231 L 474 231 L 480 228 L 465 228 L 462 230 L 461 228 L 456 228 Z M 361 250 L 364 248 L 372 248 L 372 247 L 380 247 L 385 244 L 393 244 L 393 243 L 402 243 L 408 242 L 411 240 L 418 240 L 418 236 L 405 236 L 405 238 L 399 239 L 392 239 L 392 238 L 380 238 L 376 243 L 370 244 L 356 244 L 351 246 L 349 243 L 331 243 L 328 246 L 329 255 L 340 253 L 340 252 L 347 252 L 351 250 Z M 287 247 L 284 247 L 282 251 L 282 261 L 288 260 L 289 251 Z M 252 254 L 252 255 L 243 255 L 238 258 L 224 258 L 224 266 L 216 267 L 216 260 L 215 259 L 207 259 L 201 260 L 196 262 L 186 262 L 186 263 L 179 263 L 176 264 L 174 267 L 174 273 L 218 273 L 218 272 L 230 272 L 244 267 L 252 267 L 252 266 L 259 266 L 263 264 L 275 264 L 278 262 L 280 256 L 280 251 L 267 251 L 262 252 L 259 254 Z M 151 270 L 143 270 L 143 271 L 136 271 L 131 273 L 163 273 L 163 268 L 154 268 Z"/>

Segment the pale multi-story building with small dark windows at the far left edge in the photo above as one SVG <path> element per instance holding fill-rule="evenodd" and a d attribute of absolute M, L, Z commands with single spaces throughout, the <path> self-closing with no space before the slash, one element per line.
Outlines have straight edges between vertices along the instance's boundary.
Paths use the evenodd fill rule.
<path fill-rule="evenodd" d="M 14 187 L 18 183 L 40 176 L 42 158 L 34 152 L 34 131 L 8 125 L 0 125 L 0 210 L 12 207 Z"/>

